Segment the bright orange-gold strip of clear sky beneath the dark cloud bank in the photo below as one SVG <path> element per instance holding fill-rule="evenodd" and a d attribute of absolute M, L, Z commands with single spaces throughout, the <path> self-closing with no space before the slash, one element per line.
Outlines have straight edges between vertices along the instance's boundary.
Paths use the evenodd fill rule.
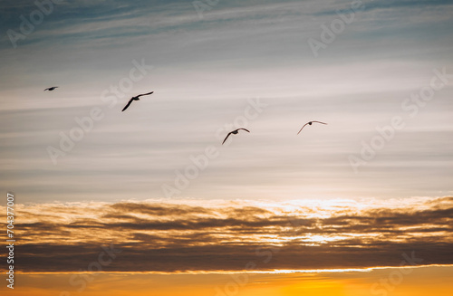
<path fill-rule="evenodd" d="M 226 291 L 243 296 L 363 296 L 383 295 L 388 292 L 397 296 L 423 296 L 427 291 L 438 295 L 448 295 L 453 288 L 451 274 L 453 266 L 421 267 L 399 272 L 398 282 L 390 282 L 392 274 L 400 268 L 391 270 L 372 270 L 370 272 L 328 272 L 328 273 L 279 273 L 279 274 L 121 274 L 103 273 L 92 275 L 85 285 L 71 284 L 74 274 L 43 273 L 20 274 L 20 286 L 8 295 L 84 295 L 84 296 L 145 296 L 152 294 L 182 296 L 228 295 Z M 387 286 L 381 285 L 387 280 Z M 236 281 L 236 282 L 235 282 Z M 435 283 L 435 285 L 433 285 Z M 389 285 L 390 284 L 390 285 Z M 387 287 L 387 288 L 386 288 Z M 81 290 L 81 291 L 79 291 Z M 0 286 L 0 293 L 6 292 Z M 373 292 L 374 291 L 374 292 Z"/>

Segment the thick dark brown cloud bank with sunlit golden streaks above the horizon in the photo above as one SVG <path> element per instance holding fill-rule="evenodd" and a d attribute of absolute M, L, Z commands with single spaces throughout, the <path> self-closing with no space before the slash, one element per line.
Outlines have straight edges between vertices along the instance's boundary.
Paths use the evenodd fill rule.
<path fill-rule="evenodd" d="M 114 245 L 110 272 L 241 271 L 453 264 L 453 197 L 18 205 L 22 272 L 74 272 Z M 46 215 L 43 215 L 46 213 Z"/>

